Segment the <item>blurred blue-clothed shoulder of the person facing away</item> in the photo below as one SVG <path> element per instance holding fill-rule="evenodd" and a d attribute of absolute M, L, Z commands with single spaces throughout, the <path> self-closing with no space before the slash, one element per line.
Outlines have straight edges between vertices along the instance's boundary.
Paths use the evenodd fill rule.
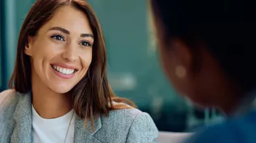
<path fill-rule="evenodd" d="M 185 143 L 254 143 L 256 142 L 256 111 L 243 117 L 227 119 L 219 124 L 208 126 L 196 133 Z"/>

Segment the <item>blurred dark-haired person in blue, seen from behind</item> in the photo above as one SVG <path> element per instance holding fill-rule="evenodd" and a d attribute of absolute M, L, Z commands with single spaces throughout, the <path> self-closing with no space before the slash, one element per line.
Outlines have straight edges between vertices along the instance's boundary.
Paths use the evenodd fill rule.
<path fill-rule="evenodd" d="M 188 142 L 256 142 L 255 3 L 152 0 L 167 77 L 179 93 L 226 120 Z"/>

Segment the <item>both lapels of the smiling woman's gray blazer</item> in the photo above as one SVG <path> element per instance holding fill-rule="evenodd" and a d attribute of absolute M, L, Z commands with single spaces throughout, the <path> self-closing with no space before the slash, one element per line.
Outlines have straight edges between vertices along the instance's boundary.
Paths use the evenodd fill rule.
<path fill-rule="evenodd" d="M 32 97 L 31 94 L 20 95 L 17 108 L 14 113 L 14 119 L 17 123 L 12 133 L 11 142 L 32 141 Z M 95 142 L 100 143 L 93 135 L 102 127 L 100 117 L 94 122 L 94 132 L 91 121 L 87 122 L 87 129 L 84 128 L 84 120 L 75 114 L 75 134 L 74 142 Z"/>

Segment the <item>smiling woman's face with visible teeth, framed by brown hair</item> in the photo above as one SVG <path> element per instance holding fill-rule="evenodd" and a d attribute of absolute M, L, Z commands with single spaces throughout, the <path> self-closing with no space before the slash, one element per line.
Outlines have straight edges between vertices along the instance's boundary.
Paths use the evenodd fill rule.
<path fill-rule="evenodd" d="M 53 18 L 28 37 L 32 80 L 64 94 L 86 74 L 92 60 L 93 32 L 86 15 L 72 8 L 59 8 Z"/>

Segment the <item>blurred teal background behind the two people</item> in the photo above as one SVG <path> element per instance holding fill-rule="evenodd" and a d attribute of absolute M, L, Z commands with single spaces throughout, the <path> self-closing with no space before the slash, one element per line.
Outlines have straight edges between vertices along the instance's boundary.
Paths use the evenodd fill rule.
<path fill-rule="evenodd" d="M 21 25 L 35 0 L 0 0 L 0 91 L 8 88 Z M 88 0 L 107 44 L 109 81 L 117 96 L 149 113 L 160 131 L 188 132 L 222 120 L 180 97 L 158 63 L 147 1 Z"/>

